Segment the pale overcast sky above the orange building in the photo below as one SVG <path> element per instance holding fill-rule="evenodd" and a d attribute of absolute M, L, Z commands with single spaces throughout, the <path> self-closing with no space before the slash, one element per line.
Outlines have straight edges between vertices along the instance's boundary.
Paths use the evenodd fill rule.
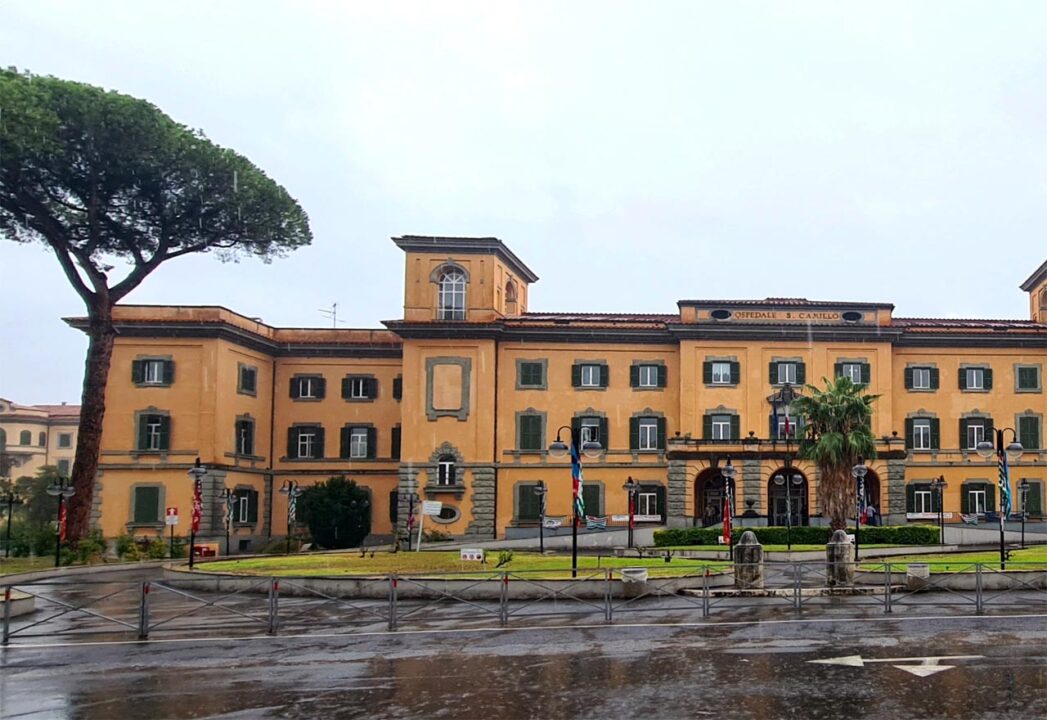
<path fill-rule="evenodd" d="M 130 302 L 402 314 L 400 234 L 495 235 L 534 311 L 681 298 L 1027 318 L 1047 242 L 1045 2 L 0 0 L 0 64 L 148 98 L 309 212 L 284 261 Z M 0 396 L 79 402 L 83 313 L 0 240 Z"/>

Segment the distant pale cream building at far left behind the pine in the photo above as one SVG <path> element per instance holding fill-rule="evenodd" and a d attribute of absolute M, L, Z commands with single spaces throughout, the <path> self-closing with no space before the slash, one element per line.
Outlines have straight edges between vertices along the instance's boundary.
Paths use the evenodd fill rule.
<path fill-rule="evenodd" d="M 0 453 L 10 477 L 36 475 L 53 466 L 69 475 L 76 454 L 80 405 L 19 405 L 0 398 Z"/>

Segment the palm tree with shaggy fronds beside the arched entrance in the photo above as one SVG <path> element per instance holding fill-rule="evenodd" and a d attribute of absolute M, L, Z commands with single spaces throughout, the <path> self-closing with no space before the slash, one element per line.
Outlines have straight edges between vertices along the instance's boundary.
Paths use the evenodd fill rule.
<path fill-rule="evenodd" d="M 865 385 L 855 385 L 850 378 L 822 380 L 825 389 L 808 385 L 810 395 L 797 398 L 793 407 L 806 423 L 800 457 L 818 466 L 822 475 L 819 503 L 837 531 L 847 527 L 847 515 L 854 503 L 851 468 L 860 459 L 876 455 L 872 403 L 879 396 L 867 395 Z"/>

